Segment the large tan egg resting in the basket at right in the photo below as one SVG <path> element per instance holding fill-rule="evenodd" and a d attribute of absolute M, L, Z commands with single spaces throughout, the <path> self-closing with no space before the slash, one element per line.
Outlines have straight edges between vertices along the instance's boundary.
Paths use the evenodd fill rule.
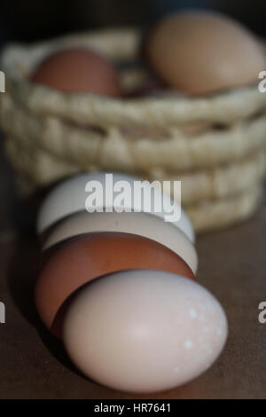
<path fill-rule="evenodd" d="M 170 15 L 153 29 L 146 50 L 166 83 L 195 95 L 256 83 L 266 62 L 252 33 L 215 12 Z"/>

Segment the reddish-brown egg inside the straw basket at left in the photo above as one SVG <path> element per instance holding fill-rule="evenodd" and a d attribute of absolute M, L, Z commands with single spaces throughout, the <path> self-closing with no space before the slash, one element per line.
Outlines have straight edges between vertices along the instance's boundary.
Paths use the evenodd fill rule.
<path fill-rule="evenodd" d="M 63 92 L 121 95 L 112 63 L 94 51 L 81 48 L 59 51 L 44 59 L 31 81 Z"/>

